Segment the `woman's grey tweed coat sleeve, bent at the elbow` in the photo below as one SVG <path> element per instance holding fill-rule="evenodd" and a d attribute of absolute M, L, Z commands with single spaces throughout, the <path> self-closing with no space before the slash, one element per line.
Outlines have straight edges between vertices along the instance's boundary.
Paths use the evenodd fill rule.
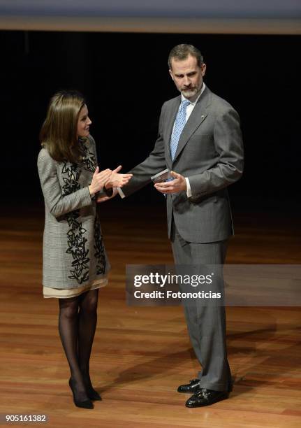
<path fill-rule="evenodd" d="M 54 217 L 92 204 L 88 187 L 63 195 L 57 176 L 57 162 L 44 148 L 38 155 L 38 176 L 40 178 L 45 205 Z"/>

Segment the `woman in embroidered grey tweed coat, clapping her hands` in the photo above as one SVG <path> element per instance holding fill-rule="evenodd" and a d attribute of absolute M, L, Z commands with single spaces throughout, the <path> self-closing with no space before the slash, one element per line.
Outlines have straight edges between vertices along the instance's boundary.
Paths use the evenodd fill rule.
<path fill-rule="evenodd" d="M 91 120 L 82 95 L 61 91 L 52 97 L 41 129 L 38 174 L 45 199 L 43 294 L 59 299 L 59 335 L 70 366 L 75 406 L 93 408 L 101 397 L 89 376 L 97 321 L 98 288 L 110 264 L 103 245 L 97 200 L 131 174 L 99 171 Z"/>

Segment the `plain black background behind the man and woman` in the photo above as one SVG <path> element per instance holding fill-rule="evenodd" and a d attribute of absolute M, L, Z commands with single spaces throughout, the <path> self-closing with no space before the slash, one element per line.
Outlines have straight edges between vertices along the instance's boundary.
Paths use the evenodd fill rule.
<path fill-rule="evenodd" d="M 300 36 L 1 31 L 0 37 L 3 204 L 43 204 L 38 133 L 59 89 L 87 97 L 101 169 L 122 164 L 126 171 L 145 159 L 161 105 L 178 94 L 168 52 L 192 43 L 207 64 L 205 83 L 242 120 L 246 162 L 243 178 L 230 187 L 234 207 L 299 210 Z M 149 186 L 131 201 L 162 204 L 162 196 Z"/>

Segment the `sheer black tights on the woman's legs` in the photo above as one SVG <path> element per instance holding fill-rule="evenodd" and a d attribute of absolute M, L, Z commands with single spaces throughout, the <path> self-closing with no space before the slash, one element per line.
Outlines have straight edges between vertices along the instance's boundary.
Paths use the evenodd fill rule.
<path fill-rule="evenodd" d="M 98 290 L 59 299 L 59 336 L 63 344 L 76 399 L 87 399 L 91 389 L 89 360 L 97 322 Z"/>

